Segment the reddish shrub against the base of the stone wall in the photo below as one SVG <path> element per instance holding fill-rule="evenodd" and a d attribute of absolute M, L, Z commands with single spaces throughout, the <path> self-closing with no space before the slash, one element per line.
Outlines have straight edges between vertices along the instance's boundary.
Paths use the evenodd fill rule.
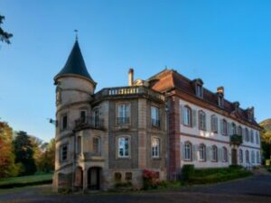
<path fill-rule="evenodd" d="M 159 177 L 156 171 L 143 171 L 143 189 L 157 189 L 159 185 Z"/>

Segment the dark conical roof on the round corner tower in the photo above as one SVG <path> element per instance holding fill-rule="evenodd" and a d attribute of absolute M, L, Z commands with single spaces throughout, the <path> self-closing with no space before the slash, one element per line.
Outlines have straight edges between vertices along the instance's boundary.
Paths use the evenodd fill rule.
<path fill-rule="evenodd" d="M 75 41 L 73 48 L 70 51 L 70 56 L 65 66 L 54 77 L 54 79 L 70 75 L 78 75 L 80 77 L 87 78 L 96 85 L 96 82 L 89 75 L 88 69 L 86 67 L 85 61 L 79 48 L 79 42 L 77 40 Z"/>

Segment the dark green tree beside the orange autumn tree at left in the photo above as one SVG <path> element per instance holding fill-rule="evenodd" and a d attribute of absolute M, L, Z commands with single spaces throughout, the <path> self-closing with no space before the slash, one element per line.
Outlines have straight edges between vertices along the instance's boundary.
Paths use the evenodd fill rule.
<path fill-rule="evenodd" d="M 23 169 L 19 175 L 32 175 L 37 171 L 36 164 L 33 159 L 33 143 L 30 136 L 23 131 L 17 133 L 14 139 L 15 162 L 22 163 Z"/>

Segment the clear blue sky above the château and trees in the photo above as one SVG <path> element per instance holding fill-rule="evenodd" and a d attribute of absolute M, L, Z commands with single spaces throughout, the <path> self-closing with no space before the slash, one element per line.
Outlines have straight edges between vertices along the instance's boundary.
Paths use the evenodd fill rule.
<path fill-rule="evenodd" d="M 149 78 L 167 66 L 271 117 L 271 1 L 0 0 L 0 117 L 49 141 L 55 115 L 52 78 L 79 45 L 98 89 L 127 85 L 127 71 Z"/>

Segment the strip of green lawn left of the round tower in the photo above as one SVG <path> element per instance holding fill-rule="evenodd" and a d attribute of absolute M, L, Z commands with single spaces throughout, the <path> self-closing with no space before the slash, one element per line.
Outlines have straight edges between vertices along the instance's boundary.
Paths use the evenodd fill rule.
<path fill-rule="evenodd" d="M 0 180 L 0 189 L 11 189 L 15 187 L 41 185 L 51 183 L 51 181 L 52 181 L 51 173 L 5 178 Z"/>

